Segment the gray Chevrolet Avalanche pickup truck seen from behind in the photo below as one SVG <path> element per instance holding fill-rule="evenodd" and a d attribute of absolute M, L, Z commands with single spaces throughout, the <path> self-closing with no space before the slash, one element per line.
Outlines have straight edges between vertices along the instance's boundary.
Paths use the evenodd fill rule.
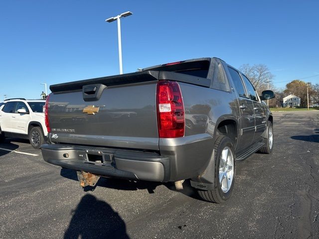
<path fill-rule="evenodd" d="M 184 180 L 210 202 L 229 199 L 235 161 L 273 148 L 273 117 L 240 71 L 200 58 L 50 86 L 46 162 L 99 177 Z"/>

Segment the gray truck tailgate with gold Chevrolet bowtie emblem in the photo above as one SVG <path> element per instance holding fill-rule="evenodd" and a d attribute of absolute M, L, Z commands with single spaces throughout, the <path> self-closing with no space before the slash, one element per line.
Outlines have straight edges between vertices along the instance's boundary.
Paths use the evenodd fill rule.
<path fill-rule="evenodd" d="M 159 150 L 157 79 L 127 75 L 51 86 L 51 142 Z M 97 83 L 106 86 L 101 96 L 85 101 L 82 88 Z"/>

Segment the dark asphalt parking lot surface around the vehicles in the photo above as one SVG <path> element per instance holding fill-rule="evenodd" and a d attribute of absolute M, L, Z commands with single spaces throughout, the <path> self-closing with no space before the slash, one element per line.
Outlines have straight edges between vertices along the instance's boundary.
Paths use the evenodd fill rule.
<path fill-rule="evenodd" d="M 100 179 L 43 161 L 27 140 L 0 144 L 0 238 L 319 238 L 319 112 L 274 113 L 274 152 L 237 162 L 232 198 Z M 16 150 L 27 154 L 10 152 Z"/>

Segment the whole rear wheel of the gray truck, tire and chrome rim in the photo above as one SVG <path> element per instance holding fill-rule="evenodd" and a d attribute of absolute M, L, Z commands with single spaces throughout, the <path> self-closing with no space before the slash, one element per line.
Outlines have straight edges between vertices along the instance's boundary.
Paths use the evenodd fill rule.
<path fill-rule="evenodd" d="M 214 189 L 198 190 L 198 194 L 205 201 L 223 203 L 230 198 L 235 183 L 235 152 L 231 139 L 225 135 L 219 136 L 214 151 Z"/>

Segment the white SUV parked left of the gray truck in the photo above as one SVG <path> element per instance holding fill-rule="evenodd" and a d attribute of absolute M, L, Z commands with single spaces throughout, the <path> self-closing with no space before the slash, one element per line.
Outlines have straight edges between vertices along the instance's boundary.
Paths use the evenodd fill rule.
<path fill-rule="evenodd" d="M 8 99 L 0 106 L 0 141 L 5 137 L 26 138 L 40 148 L 48 134 L 43 106 L 45 100 Z"/>

